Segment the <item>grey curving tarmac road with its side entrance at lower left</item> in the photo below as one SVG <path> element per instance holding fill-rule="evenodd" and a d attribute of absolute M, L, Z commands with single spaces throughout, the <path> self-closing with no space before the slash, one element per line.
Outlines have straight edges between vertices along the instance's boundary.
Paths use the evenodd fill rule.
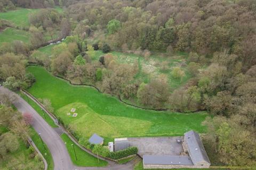
<path fill-rule="evenodd" d="M 4 87 L 0 87 L 0 94 L 8 94 L 8 95 L 16 95 L 9 89 Z M 116 164 L 114 162 L 108 161 L 107 167 L 77 167 L 73 165 L 71 162 L 71 158 L 68 154 L 65 143 L 60 138 L 59 134 L 55 132 L 55 130 L 45 122 L 45 120 L 31 107 L 25 100 L 23 100 L 19 95 L 16 95 L 17 99 L 14 101 L 14 106 L 17 107 L 18 111 L 21 113 L 28 112 L 33 115 L 33 128 L 39 134 L 41 133 L 41 137 L 44 143 L 49 148 L 53 162 L 54 162 L 54 170 L 87 170 L 87 169 L 104 169 L 104 170 L 129 170 L 133 169 L 136 161 L 131 161 L 126 164 Z M 43 153 L 42 153 L 43 154 Z M 138 161 L 138 160 L 137 160 Z"/>

